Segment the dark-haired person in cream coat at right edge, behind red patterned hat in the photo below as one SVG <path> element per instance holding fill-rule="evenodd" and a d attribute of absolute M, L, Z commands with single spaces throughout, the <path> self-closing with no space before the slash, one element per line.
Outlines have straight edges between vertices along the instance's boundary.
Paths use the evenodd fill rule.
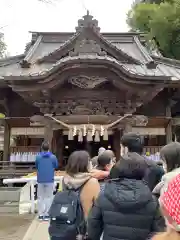
<path fill-rule="evenodd" d="M 153 190 L 156 195 L 162 195 L 167 190 L 171 180 L 180 174 L 180 143 L 172 142 L 167 144 L 160 150 L 160 156 L 166 173 Z"/>

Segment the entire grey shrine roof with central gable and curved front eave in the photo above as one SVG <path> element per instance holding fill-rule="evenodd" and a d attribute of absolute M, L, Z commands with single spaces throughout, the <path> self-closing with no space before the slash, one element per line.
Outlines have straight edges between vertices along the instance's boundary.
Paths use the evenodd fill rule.
<path fill-rule="evenodd" d="M 32 41 L 24 54 L 0 60 L 0 79 L 37 79 L 63 69 L 68 63 L 94 61 L 114 65 L 134 78 L 180 80 L 180 61 L 151 55 L 144 47 L 143 34 L 101 33 L 97 20 L 88 14 L 83 18 L 78 21 L 76 32 L 31 32 Z M 78 41 L 86 41 L 87 29 L 98 40 L 98 44 L 94 39 L 91 41 L 99 52 L 94 53 L 97 49 L 92 49 L 92 53 L 73 52 L 75 55 L 71 55 Z"/>

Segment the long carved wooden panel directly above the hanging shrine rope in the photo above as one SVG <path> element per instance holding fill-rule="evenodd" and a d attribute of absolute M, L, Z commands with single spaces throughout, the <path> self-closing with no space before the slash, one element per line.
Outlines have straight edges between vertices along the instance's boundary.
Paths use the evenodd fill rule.
<path fill-rule="evenodd" d="M 121 115 L 134 112 L 136 104 L 127 105 L 116 99 L 109 100 L 61 100 L 60 102 L 36 102 L 42 113 L 57 115 Z"/>

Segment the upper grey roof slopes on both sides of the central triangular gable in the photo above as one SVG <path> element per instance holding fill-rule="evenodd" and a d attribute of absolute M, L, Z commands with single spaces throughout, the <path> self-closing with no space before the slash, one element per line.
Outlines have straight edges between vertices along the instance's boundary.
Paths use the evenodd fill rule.
<path fill-rule="evenodd" d="M 41 36 L 41 42 L 34 51 L 31 57 L 31 62 L 35 62 L 38 59 L 48 56 L 60 49 L 64 44 L 76 37 L 76 32 L 31 32 L 32 42 L 36 42 Z M 140 33 L 100 33 L 100 35 L 112 44 L 113 47 L 124 52 L 128 56 L 137 59 L 141 62 L 147 61 L 146 57 L 139 49 L 138 41 L 141 43 L 145 42 L 143 34 Z M 32 45 L 33 46 L 33 45 Z M 142 46 L 143 47 L 143 46 Z M 146 50 L 145 50 L 146 51 Z M 147 54 L 147 53 L 146 53 Z"/>

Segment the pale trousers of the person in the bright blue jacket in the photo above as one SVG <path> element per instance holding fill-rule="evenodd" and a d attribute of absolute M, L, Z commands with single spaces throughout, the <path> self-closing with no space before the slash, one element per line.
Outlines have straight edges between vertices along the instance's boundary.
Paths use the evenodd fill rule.
<path fill-rule="evenodd" d="M 54 183 L 38 183 L 38 214 L 48 216 L 49 209 L 53 200 Z"/>

